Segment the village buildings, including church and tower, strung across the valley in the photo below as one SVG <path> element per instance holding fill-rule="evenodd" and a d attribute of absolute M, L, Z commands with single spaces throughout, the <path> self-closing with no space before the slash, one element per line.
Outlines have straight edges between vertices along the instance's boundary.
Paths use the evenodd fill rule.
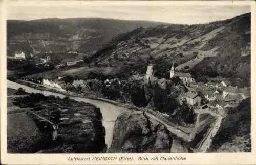
<path fill-rule="evenodd" d="M 49 58 L 47 60 L 49 60 Z M 146 74 L 139 75 L 136 73 L 135 76 L 144 78 L 146 83 L 157 80 L 158 84 L 164 86 L 166 79 L 157 79 L 153 74 L 153 67 L 154 65 L 150 64 L 147 66 Z M 181 94 L 178 100 L 180 102 L 185 100 L 187 104 L 194 107 L 194 109 L 207 108 L 209 111 L 216 112 L 218 114 L 225 114 L 227 109 L 237 107 L 242 100 L 250 97 L 250 88 L 248 87 L 233 87 L 231 82 L 226 79 L 223 79 L 220 82 L 196 82 L 195 78 L 190 73 L 176 71 L 173 64 L 172 68 L 169 70 L 169 79 L 175 77 L 179 77 L 184 86 L 188 89 L 188 92 Z M 82 78 L 71 78 L 67 81 L 65 78 L 67 79 L 67 77 L 48 79 L 47 77 L 26 76 L 23 80 L 32 81 L 36 84 L 41 84 L 44 87 L 61 92 L 73 93 L 73 91 L 76 90 L 71 92 L 70 89 L 79 88 L 80 94 L 83 93 L 82 91 L 90 91 L 90 87 L 88 86 L 91 86 L 91 84 L 97 84 L 99 81 L 96 79 Z M 106 78 L 102 81 L 102 84 L 105 87 L 111 87 L 115 84 L 114 82 L 122 86 L 126 81 L 118 78 Z"/>

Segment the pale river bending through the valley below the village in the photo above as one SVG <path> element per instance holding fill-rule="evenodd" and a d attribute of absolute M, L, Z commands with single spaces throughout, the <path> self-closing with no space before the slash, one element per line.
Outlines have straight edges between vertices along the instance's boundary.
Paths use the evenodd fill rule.
<path fill-rule="evenodd" d="M 55 93 L 55 92 L 50 92 L 50 91 L 41 91 L 37 90 L 22 84 L 18 84 L 16 82 L 7 80 L 7 88 L 11 89 L 18 89 L 18 88 L 23 88 L 25 89 L 26 92 L 28 93 L 41 93 L 45 96 L 59 96 L 60 98 L 65 97 L 66 95 L 62 95 L 60 93 Z M 103 121 L 102 124 L 105 127 L 105 142 L 108 145 L 108 148 L 111 146 L 112 143 L 112 137 L 113 137 L 113 132 L 114 132 L 114 125 L 115 125 L 115 120 L 117 117 L 125 112 L 125 111 L 131 111 L 127 108 L 120 107 L 108 102 L 100 101 L 100 100 L 94 100 L 94 99 L 89 99 L 89 98 L 81 98 L 81 97 L 72 97 L 69 96 L 71 99 L 74 99 L 76 101 L 82 101 L 82 102 L 87 102 L 90 104 L 95 105 L 96 107 L 100 108 L 100 111 L 102 113 Z M 104 121 L 106 120 L 106 121 Z M 187 150 L 181 145 L 180 141 L 178 139 L 173 138 L 173 145 L 172 145 L 172 150 L 171 152 L 187 152 Z"/>

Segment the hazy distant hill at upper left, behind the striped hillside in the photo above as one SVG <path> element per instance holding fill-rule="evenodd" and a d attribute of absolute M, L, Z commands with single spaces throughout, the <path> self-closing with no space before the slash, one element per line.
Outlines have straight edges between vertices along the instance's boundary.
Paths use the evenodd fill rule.
<path fill-rule="evenodd" d="M 12 56 L 20 49 L 36 54 L 70 49 L 93 53 L 119 33 L 159 24 L 163 23 L 102 18 L 7 20 L 7 53 Z"/>

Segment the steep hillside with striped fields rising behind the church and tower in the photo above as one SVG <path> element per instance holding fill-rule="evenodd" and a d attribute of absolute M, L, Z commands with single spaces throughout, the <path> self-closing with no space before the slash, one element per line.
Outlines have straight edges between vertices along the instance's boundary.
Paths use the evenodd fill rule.
<path fill-rule="evenodd" d="M 197 80 L 222 76 L 238 78 L 249 86 L 250 19 L 246 13 L 207 24 L 137 28 L 104 44 L 93 60 L 142 73 L 151 62 L 158 77 L 168 77 L 174 62 L 176 70 L 193 72 Z"/>

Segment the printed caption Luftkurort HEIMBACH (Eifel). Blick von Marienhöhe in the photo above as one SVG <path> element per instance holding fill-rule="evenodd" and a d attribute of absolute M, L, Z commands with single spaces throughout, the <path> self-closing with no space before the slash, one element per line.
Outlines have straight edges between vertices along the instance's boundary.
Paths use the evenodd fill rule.
<path fill-rule="evenodd" d="M 186 161 L 186 157 L 176 156 L 176 157 L 166 157 L 166 156 L 159 156 L 159 157 L 147 157 L 147 156 L 140 156 L 134 158 L 133 156 L 126 157 L 126 156 L 93 156 L 93 157 L 69 157 L 69 161 Z"/>

